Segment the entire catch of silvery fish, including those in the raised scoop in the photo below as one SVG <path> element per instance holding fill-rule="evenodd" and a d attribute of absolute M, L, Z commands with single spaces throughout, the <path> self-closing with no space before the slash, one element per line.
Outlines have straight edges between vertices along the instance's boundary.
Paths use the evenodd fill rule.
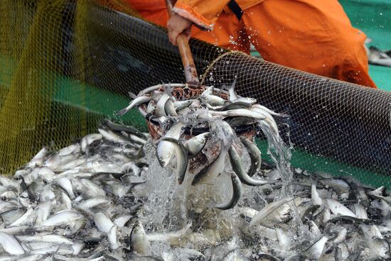
<path fill-rule="evenodd" d="M 119 111 L 141 106 L 154 137 L 105 120 L 0 176 L 0 261 L 391 260 L 385 187 L 299 169 L 286 181 L 252 138 L 282 143 L 273 117 L 284 115 L 235 83 L 191 99 L 177 87 Z"/>

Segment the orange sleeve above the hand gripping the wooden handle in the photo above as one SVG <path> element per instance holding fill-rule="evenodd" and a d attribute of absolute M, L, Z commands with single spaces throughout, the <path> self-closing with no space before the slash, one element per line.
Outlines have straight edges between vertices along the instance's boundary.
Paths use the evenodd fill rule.
<path fill-rule="evenodd" d="M 229 0 L 178 0 L 173 11 L 205 30 L 212 30 L 228 2 Z"/>

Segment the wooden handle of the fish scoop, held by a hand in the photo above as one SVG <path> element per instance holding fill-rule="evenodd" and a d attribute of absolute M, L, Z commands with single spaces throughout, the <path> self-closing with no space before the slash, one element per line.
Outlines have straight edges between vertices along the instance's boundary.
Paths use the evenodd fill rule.
<path fill-rule="evenodd" d="M 171 0 L 166 0 L 166 6 L 168 11 L 168 16 L 173 16 L 173 4 Z M 176 38 L 176 43 L 178 43 L 179 52 L 181 53 L 181 59 L 183 64 L 183 70 L 185 70 L 186 82 L 191 85 L 200 86 L 200 80 L 198 79 L 197 70 L 195 69 L 195 64 L 193 60 L 193 55 L 191 54 L 190 46 L 188 45 L 188 39 L 186 35 L 181 33 Z"/>

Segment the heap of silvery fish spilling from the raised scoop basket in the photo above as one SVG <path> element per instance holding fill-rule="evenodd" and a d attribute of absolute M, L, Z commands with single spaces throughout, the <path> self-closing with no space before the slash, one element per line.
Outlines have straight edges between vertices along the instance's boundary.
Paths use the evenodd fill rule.
<path fill-rule="evenodd" d="M 138 96 L 132 94 L 134 100 L 118 112 L 118 115 L 122 116 L 136 106 L 144 106 L 144 109 L 141 107 L 141 112 L 144 112 L 146 118 L 159 123 L 157 131 L 160 132 L 161 138 L 157 144 L 156 157 L 164 168 L 171 165 L 176 158 L 174 164 L 178 184 L 185 180 L 188 162 L 195 158 L 195 164 L 202 165 L 202 157 L 208 159 L 203 167 L 198 168 L 191 184 L 211 184 L 223 173 L 225 159 L 229 155 L 232 166 L 230 179 L 234 193 L 228 201 L 216 204 L 217 209 L 232 209 L 237 204 L 242 183 L 248 186 L 261 186 L 275 182 L 255 175 L 260 170 L 262 156 L 257 145 L 252 142 L 254 133 L 245 133 L 247 137 L 241 135 L 238 138 L 235 128 L 252 126 L 255 129 L 259 126 L 272 134 L 274 141 L 279 141 L 279 130 L 273 116 L 284 115 L 257 104 L 257 99 L 238 96 L 235 93 L 235 83 L 236 79 L 230 87 L 224 87 L 227 90 L 225 93 L 214 87 L 202 87 L 203 92 L 200 95 L 190 97 L 176 97 L 175 86 L 162 84 L 144 89 Z M 186 94 L 191 91 L 191 87 L 184 87 L 179 92 Z M 224 94 L 227 99 L 223 97 Z M 194 136 L 189 135 L 200 128 L 207 131 Z M 188 133 L 186 129 L 189 130 Z M 243 167 L 240 156 L 244 150 L 251 159 L 248 171 Z"/>

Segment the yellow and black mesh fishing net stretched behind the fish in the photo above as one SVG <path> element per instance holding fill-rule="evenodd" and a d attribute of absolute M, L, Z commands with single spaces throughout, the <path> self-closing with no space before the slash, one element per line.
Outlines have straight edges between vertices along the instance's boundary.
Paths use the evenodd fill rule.
<path fill-rule="evenodd" d="M 1 173 L 21 167 L 43 146 L 58 149 L 95 132 L 102 118 L 146 130 L 136 110 L 115 116 L 129 103 L 128 91 L 185 81 L 166 30 L 121 1 L 3 0 L 0 18 Z M 290 115 L 279 127 L 294 145 L 294 167 L 388 184 L 389 92 L 198 40 L 191 40 L 191 49 L 205 84 L 221 87 L 236 77 L 240 95 Z"/>

